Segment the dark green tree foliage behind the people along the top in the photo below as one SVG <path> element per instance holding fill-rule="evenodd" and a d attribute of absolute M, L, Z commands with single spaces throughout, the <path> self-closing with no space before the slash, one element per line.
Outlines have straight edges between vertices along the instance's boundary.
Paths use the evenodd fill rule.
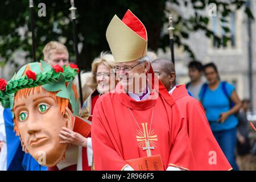
<path fill-rule="evenodd" d="M 94 57 L 98 56 L 101 51 L 109 51 L 106 42 L 106 28 L 114 14 L 119 18 L 125 14 L 127 9 L 133 11 L 147 28 L 148 47 L 152 50 L 157 48 L 165 48 L 169 44 L 167 34 L 163 34 L 163 24 L 168 22 L 164 15 L 166 2 L 172 5 L 184 6 L 188 4 L 193 7 L 193 15 L 184 18 L 178 15 L 174 25 L 175 30 L 175 46 L 181 46 L 185 51 L 194 57 L 191 48 L 182 42 L 183 39 L 189 38 L 189 32 L 203 30 L 209 38 L 215 38 L 219 45 L 226 44 L 229 41 L 228 36 L 218 37 L 209 30 L 209 17 L 200 15 L 198 11 L 205 10 L 209 3 L 216 3 L 217 9 L 222 7 L 221 21 L 225 22 L 226 17 L 232 10 L 230 5 L 241 9 L 245 6 L 245 1 L 230 0 L 230 3 L 223 1 L 206 1 L 206 0 L 158 0 L 158 1 L 139 1 L 139 0 L 108 0 L 108 1 L 75 1 L 77 7 L 77 31 L 79 32 L 79 43 L 83 44 L 80 59 L 82 60 L 82 68 L 89 69 Z M 38 16 L 38 4 L 46 4 L 46 17 Z M 73 28 L 72 21 L 69 18 L 71 7 L 68 0 L 52 1 L 52 0 L 36 0 L 34 1 L 35 12 L 35 35 L 36 35 L 36 56 L 38 59 L 43 58 L 42 50 L 46 43 L 51 40 L 65 39 L 65 45 L 71 53 L 71 60 L 75 61 L 73 51 Z M 30 11 L 28 8 L 28 0 L 3 0 L 0 2 L 1 26 L 0 26 L 0 64 L 6 61 L 12 61 L 11 55 L 21 49 L 29 51 L 28 57 L 32 57 L 31 32 L 30 32 Z M 245 9 L 245 13 L 253 18 L 249 9 Z M 20 28 L 23 27 L 23 28 Z M 25 30 L 24 36 L 19 34 L 18 30 Z M 228 27 L 224 27 L 225 32 L 229 32 Z"/>

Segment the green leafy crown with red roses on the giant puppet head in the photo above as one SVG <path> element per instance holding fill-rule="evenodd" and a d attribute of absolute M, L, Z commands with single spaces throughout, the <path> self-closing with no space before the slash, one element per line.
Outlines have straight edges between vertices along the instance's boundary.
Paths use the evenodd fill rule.
<path fill-rule="evenodd" d="M 28 65 L 30 70 L 25 72 Z M 75 64 L 52 67 L 42 60 L 40 63 L 26 64 L 20 68 L 18 73 L 14 74 L 10 81 L 6 82 L 0 79 L 0 102 L 3 107 L 13 109 L 14 95 L 18 90 L 42 86 L 49 92 L 57 92 L 56 96 L 58 97 L 67 98 L 74 114 L 77 114 L 79 103 L 72 90 L 72 82 L 77 72 L 79 69 Z M 69 82 L 68 86 L 65 85 L 66 82 Z"/>

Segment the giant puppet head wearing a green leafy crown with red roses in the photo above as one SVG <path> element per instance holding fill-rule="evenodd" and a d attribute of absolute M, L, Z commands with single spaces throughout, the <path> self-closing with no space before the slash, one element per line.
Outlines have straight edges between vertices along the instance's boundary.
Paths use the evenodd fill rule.
<path fill-rule="evenodd" d="M 60 144 L 61 127 L 73 130 L 79 110 L 73 78 L 76 65 L 51 66 L 44 61 L 24 65 L 13 78 L 0 79 L 0 101 L 13 111 L 14 130 L 26 151 L 43 166 L 64 158 L 67 144 Z M 43 152 L 43 153 L 42 153 Z"/>

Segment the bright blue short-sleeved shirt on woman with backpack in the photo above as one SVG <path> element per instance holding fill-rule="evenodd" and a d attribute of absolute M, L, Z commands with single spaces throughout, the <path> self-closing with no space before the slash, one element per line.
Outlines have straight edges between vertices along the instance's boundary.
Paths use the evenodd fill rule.
<path fill-rule="evenodd" d="M 216 90 L 210 90 L 207 87 L 207 90 L 203 96 L 203 88 L 199 93 L 199 98 L 202 101 L 203 106 L 206 111 L 206 116 L 208 121 L 210 122 L 210 128 L 212 131 L 224 131 L 233 129 L 238 124 L 238 119 L 236 115 L 229 115 L 228 119 L 224 121 L 224 123 L 218 123 L 218 119 L 220 118 L 220 114 L 230 110 L 230 102 L 229 98 L 231 97 L 233 91 L 235 90 L 234 86 L 226 83 L 226 91 L 228 92 L 229 98 L 225 95 L 222 86 L 222 82 L 218 85 Z"/>

